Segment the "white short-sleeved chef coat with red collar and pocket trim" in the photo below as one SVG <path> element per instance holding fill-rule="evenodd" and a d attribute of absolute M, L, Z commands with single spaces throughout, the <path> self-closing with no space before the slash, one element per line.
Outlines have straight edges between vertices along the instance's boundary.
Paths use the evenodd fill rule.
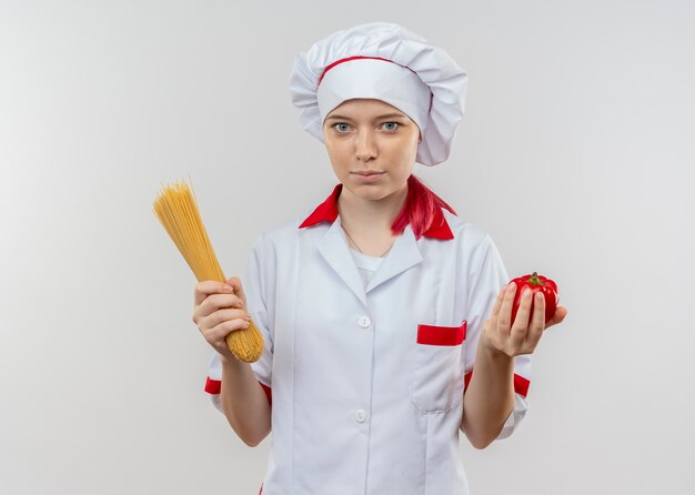
<path fill-rule="evenodd" d="M 265 347 L 252 370 L 272 410 L 263 495 L 465 495 L 463 393 L 484 320 L 508 282 L 497 249 L 443 210 L 420 240 L 410 225 L 369 284 L 341 232 L 333 194 L 264 233 L 242 281 Z M 523 418 L 531 358 L 515 357 Z M 220 407 L 213 356 L 205 390 Z"/>

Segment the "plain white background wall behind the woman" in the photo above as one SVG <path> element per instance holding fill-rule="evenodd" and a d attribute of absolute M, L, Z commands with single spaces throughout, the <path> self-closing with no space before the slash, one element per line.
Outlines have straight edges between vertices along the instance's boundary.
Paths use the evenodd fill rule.
<path fill-rule="evenodd" d="M 0 0 L 0 492 L 258 493 L 270 440 L 246 447 L 202 392 L 195 281 L 151 204 L 190 175 L 242 273 L 335 183 L 294 55 L 376 20 L 470 74 L 450 160 L 416 173 L 570 310 L 521 428 L 462 442 L 473 495 L 692 493 L 685 0 Z"/>

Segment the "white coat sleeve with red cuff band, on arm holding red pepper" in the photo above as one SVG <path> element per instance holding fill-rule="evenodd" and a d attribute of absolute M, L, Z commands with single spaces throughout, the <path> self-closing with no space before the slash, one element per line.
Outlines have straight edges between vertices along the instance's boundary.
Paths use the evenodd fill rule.
<path fill-rule="evenodd" d="M 479 255 L 473 255 L 470 267 L 467 301 L 469 301 L 469 326 L 466 330 L 465 346 L 465 376 L 464 386 L 467 387 L 473 375 L 473 364 L 480 340 L 483 323 L 494 306 L 500 289 L 505 285 L 510 277 L 500 252 L 492 239 L 486 235 L 479 246 Z M 502 431 L 496 440 L 506 438 L 514 433 L 528 411 L 526 395 L 531 384 L 531 355 L 524 354 L 514 357 L 514 410 L 506 418 Z M 464 388 L 465 393 L 465 388 Z"/>

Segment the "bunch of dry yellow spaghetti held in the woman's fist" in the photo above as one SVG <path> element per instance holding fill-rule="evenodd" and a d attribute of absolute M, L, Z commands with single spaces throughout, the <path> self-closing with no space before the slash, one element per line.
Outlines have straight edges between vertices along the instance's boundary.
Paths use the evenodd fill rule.
<path fill-rule="evenodd" d="M 189 188 L 183 181 L 174 182 L 162 188 L 152 209 L 198 281 L 225 282 L 194 194 L 192 183 Z M 226 336 L 226 345 L 238 360 L 253 363 L 263 353 L 263 336 L 251 321 L 248 329 L 231 332 Z"/>

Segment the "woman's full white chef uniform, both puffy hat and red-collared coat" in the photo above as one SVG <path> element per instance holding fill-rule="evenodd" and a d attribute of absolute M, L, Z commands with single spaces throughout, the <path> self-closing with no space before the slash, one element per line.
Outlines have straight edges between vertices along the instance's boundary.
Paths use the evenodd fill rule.
<path fill-rule="evenodd" d="M 319 139 L 328 112 L 350 98 L 399 108 L 422 132 L 416 161 L 433 165 L 449 155 L 465 78 L 441 49 L 379 22 L 300 54 L 291 90 Z M 262 493 L 467 494 L 463 394 L 483 322 L 508 275 L 491 238 L 443 209 L 419 239 L 407 225 L 384 257 L 353 252 L 341 229 L 341 188 L 262 234 L 243 280 L 265 341 L 251 367 L 272 411 Z M 516 356 L 515 405 L 498 438 L 528 408 L 530 373 L 530 356 Z M 205 390 L 219 408 L 220 380 L 215 353 Z"/>

